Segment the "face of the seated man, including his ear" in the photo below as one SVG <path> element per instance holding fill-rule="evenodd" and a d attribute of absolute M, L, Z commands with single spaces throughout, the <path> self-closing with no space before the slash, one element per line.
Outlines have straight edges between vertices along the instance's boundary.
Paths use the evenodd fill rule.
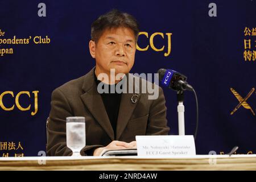
<path fill-rule="evenodd" d="M 110 73 L 128 73 L 133 67 L 136 41 L 130 28 L 106 29 L 97 43 L 89 43 L 90 54 L 96 59 L 96 75 Z"/>

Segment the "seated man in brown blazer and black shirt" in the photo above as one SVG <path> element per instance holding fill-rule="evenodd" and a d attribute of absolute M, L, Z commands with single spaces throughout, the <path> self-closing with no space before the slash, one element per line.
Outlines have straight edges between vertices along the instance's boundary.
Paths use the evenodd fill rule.
<path fill-rule="evenodd" d="M 135 148 L 136 135 L 167 135 L 166 105 L 163 90 L 158 98 L 149 100 L 143 86 L 134 83 L 133 93 L 99 93 L 98 85 L 117 86 L 123 82 L 127 88 L 129 73 L 133 67 L 138 24 L 127 13 L 112 10 L 100 16 L 92 24 L 90 54 L 96 60 L 85 76 L 67 82 L 52 92 L 51 111 L 48 120 L 47 154 L 50 156 L 72 155 L 66 144 L 66 118 L 85 117 L 86 146 L 81 155 L 100 155 L 104 149 Z M 119 80 L 99 79 L 101 74 L 123 75 Z M 125 82 L 126 81 L 126 82 Z M 138 92 L 137 92 L 138 91 Z"/>

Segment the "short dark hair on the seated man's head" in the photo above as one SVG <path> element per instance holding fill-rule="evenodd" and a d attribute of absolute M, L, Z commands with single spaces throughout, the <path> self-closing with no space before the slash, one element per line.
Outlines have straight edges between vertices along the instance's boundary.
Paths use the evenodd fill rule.
<path fill-rule="evenodd" d="M 90 36 L 94 42 L 97 42 L 102 33 L 107 28 L 130 28 L 134 32 L 135 40 L 138 39 L 139 25 L 134 16 L 122 13 L 119 10 L 111 10 L 108 13 L 101 15 L 92 23 Z"/>

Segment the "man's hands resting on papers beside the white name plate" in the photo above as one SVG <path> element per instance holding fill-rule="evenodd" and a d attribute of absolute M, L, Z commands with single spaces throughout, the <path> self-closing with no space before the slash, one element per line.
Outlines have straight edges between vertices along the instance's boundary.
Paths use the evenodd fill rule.
<path fill-rule="evenodd" d="M 120 150 L 125 148 L 136 148 L 136 147 L 137 147 L 136 141 L 126 143 L 126 142 L 114 140 L 113 142 L 109 143 L 108 146 L 106 147 L 96 148 L 96 150 L 94 150 L 93 152 L 93 156 L 99 156 L 103 150 Z"/>

